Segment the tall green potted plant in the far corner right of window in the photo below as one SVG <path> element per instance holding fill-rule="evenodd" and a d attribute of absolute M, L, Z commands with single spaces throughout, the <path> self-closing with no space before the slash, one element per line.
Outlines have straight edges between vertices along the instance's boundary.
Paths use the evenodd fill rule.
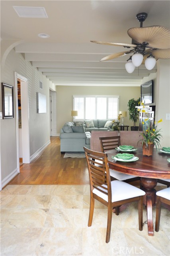
<path fill-rule="evenodd" d="M 129 110 L 129 119 L 133 121 L 133 126 L 131 126 L 131 131 L 139 130 L 139 126 L 136 126 L 136 122 L 139 119 L 139 111 L 138 108 L 135 108 L 137 106 L 140 106 L 141 98 L 135 100 L 134 98 L 129 100 L 127 106 Z"/>

